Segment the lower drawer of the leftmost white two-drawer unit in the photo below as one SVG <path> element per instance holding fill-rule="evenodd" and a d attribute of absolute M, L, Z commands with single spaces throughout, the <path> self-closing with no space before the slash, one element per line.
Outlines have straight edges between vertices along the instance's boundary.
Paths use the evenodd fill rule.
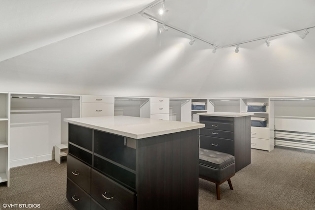
<path fill-rule="evenodd" d="M 82 103 L 81 118 L 114 116 L 114 103 Z"/>

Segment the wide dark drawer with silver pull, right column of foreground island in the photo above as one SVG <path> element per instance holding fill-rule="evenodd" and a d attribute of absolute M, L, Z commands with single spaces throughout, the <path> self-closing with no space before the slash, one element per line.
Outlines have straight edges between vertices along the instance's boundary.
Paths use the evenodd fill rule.
<path fill-rule="evenodd" d="M 92 169 L 92 197 L 105 209 L 135 210 L 136 193 Z"/>

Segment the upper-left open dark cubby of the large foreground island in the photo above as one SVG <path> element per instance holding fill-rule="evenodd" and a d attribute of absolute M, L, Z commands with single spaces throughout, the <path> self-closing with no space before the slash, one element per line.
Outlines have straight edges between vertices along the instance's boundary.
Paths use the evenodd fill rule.
<path fill-rule="evenodd" d="M 69 123 L 69 142 L 92 151 L 93 129 Z"/>

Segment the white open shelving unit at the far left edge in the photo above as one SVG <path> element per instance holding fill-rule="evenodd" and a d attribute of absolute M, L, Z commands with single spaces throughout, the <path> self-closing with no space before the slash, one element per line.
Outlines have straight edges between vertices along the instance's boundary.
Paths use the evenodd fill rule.
<path fill-rule="evenodd" d="M 10 185 L 10 94 L 0 92 L 0 182 Z"/>

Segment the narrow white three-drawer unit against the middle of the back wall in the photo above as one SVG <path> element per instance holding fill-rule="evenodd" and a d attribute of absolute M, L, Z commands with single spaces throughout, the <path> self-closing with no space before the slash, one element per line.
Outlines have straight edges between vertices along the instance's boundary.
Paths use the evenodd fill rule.
<path fill-rule="evenodd" d="M 150 118 L 169 120 L 169 98 L 150 98 Z"/>

